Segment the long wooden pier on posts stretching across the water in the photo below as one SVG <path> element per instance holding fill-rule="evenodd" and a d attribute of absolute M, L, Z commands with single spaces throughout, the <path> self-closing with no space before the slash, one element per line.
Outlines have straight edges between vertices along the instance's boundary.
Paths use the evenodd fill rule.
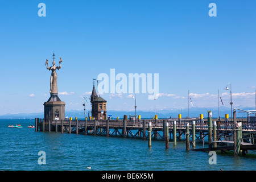
<path fill-rule="evenodd" d="M 201 115 L 195 118 L 181 118 L 179 116 L 171 119 L 156 119 L 156 117 L 155 119 L 138 119 L 137 121 L 128 120 L 126 115 L 123 118 L 98 121 L 77 118 L 75 120 L 44 121 L 44 119 L 35 118 L 35 131 L 150 139 L 150 146 L 152 137 L 154 140 L 168 140 L 166 148 L 169 148 L 169 142 L 174 142 L 174 146 L 176 146 L 177 141 L 187 140 L 189 142 L 187 145 L 192 143 L 192 150 L 201 151 L 231 150 L 230 148 L 233 147 L 223 146 L 224 143 L 232 143 L 232 141 L 225 142 L 223 139 L 221 140 L 224 137 L 232 138 L 230 136 L 234 134 L 234 121 L 228 121 L 228 119 L 218 118 L 211 121 L 209 118 L 204 119 Z M 256 122 L 247 122 L 243 118 L 234 119 L 236 122 L 241 122 L 241 135 L 246 133 L 253 136 L 256 133 Z M 148 129 L 149 123 L 151 123 L 150 130 Z M 209 133 L 211 136 L 209 136 Z M 204 143 L 207 136 L 206 141 L 210 143 L 209 147 L 196 149 L 196 142 Z M 246 141 L 241 143 L 240 150 L 256 149 L 253 137 Z M 247 145 L 244 143 L 247 143 Z M 222 144 L 222 148 L 218 148 L 217 144 Z M 189 150 L 189 146 L 187 146 L 187 150 Z"/>

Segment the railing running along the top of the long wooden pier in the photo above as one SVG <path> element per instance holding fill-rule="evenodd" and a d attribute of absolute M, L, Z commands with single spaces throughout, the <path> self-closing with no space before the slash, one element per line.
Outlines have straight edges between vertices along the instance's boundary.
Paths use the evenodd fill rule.
<path fill-rule="evenodd" d="M 176 129 L 185 129 L 187 123 L 189 123 L 189 129 L 192 129 L 192 124 L 195 122 L 195 128 L 196 130 L 208 130 L 208 122 L 206 119 L 200 119 L 200 118 L 189 118 L 189 119 L 140 119 L 137 121 L 126 121 L 126 127 L 127 128 L 134 128 L 134 129 L 139 129 L 143 127 L 143 122 L 144 122 L 144 127 L 148 127 L 148 122 L 152 123 L 152 129 L 163 129 L 164 128 L 164 123 L 168 122 L 168 127 L 170 129 L 173 129 L 174 127 L 174 121 L 176 121 Z M 226 130 L 226 131 L 231 131 L 233 130 L 233 121 L 220 121 L 219 119 L 213 119 L 213 121 L 216 121 L 217 123 L 217 130 Z M 241 121 L 240 119 L 237 119 L 237 121 Z M 44 119 L 39 119 L 39 123 L 45 122 L 48 125 L 49 121 L 44 121 Z M 56 125 L 56 121 L 50 121 L 51 125 Z M 63 122 L 64 126 L 68 126 L 69 122 L 71 126 L 76 126 L 77 122 L 79 125 L 79 128 L 85 127 L 85 120 L 67 120 L 65 119 L 64 121 L 57 121 L 58 125 Z M 98 121 L 92 121 L 88 120 L 86 121 L 87 127 L 94 127 L 94 123 L 96 123 L 97 127 L 106 127 L 107 120 L 98 120 Z M 109 128 L 121 128 L 123 127 L 123 119 L 112 119 L 109 120 Z M 256 131 L 256 122 L 255 121 L 243 121 L 242 122 L 242 131 Z"/>

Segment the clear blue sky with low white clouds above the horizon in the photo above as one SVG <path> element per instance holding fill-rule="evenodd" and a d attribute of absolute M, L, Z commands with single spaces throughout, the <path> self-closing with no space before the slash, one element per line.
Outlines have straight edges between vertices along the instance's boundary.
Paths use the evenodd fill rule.
<path fill-rule="evenodd" d="M 46 17 L 38 4 L 46 4 Z M 210 17 L 209 3 L 217 5 Z M 82 110 L 100 73 L 159 73 L 156 110 L 217 107 L 218 89 L 229 107 L 255 107 L 255 1 L 1 1 L 0 114 L 43 111 L 49 72 L 56 64 L 66 110 Z M 130 94 L 101 94 L 109 110 L 134 110 Z M 148 94 L 137 109 L 154 111 Z M 89 105 L 86 106 L 88 109 Z"/>

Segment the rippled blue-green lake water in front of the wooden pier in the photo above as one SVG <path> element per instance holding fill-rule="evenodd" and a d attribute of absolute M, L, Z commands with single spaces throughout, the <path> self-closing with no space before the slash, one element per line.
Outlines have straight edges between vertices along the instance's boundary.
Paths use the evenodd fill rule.
<path fill-rule="evenodd" d="M 23 128 L 7 126 L 21 124 Z M 0 170 L 255 170 L 256 154 L 234 157 L 217 154 L 208 163 L 207 152 L 185 151 L 185 143 L 165 149 L 164 141 L 35 132 L 34 120 L 0 120 Z M 199 147 L 199 144 L 197 144 Z M 38 152 L 46 164 L 38 164 Z"/>

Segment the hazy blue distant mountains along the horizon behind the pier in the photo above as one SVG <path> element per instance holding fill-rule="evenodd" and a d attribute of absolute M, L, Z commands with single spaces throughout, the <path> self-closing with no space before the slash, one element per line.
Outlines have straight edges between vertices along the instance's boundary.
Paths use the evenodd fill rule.
<path fill-rule="evenodd" d="M 241 107 L 240 109 L 243 110 L 254 110 L 253 107 Z M 191 107 L 189 108 L 189 117 L 199 117 L 200 114 L 204 115 L 204 118 L 207 118 L 207 111 L 211 110 L 213 118 L 218 117 L 218 108 L 206 108 L 206 107 Z M 188 109 L 170 109 L 170 110 L 157 110 L 156 114 L 158 118 L 177 118 L 178 114 L 182 115 L 183 118 L 188 116 Z M 135 115 L 134 111 L 117 111 L 117 110 L 109 110 L 108 115 L 112 115 L 112 118 L 123 118 L 123 115 Z M 220 117 L 224 118 L 225 114 L 230 115 L 230 107 L 220 107 Z M 140 111 L 137 110 L 137 115 L 141 115 L 141 118 L 152 118 L 155 115 L 153 111 Z M 237 111 L 237 117 L 246 117 L 246 113 L 240 113 Z M 4 114 L 0 115 L 0 119 L 34 119 L 34 118 L 43 118 L 44 113 L 20 113 L 20 114 Z M 69 110 L 65 111 L 65 117 L 72 117 L 72 118 L 84 118 L 84 110 Z M 88 117 L 88 113 L 86 113 L 86 117 Z"/>

